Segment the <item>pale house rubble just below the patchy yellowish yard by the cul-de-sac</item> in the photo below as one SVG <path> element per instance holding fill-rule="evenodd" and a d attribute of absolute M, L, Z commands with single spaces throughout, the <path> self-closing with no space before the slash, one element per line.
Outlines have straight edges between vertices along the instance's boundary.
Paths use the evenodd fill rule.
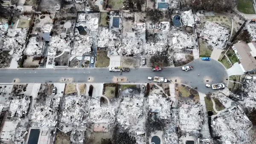
<path fill-rule="evenodd" d="M 201 130 L 203 122 L 201 106 L 197 104 L 182 104 L 179 110 L 179 127 L 182 132 L 197 132 Z"/>

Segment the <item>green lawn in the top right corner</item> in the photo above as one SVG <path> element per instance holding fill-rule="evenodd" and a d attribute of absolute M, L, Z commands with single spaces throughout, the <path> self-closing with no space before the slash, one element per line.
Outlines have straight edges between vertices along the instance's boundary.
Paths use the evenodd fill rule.
<path fill-rule="evenodd" d="M 237 10 L 244 14 L 255 14 L 253 0 L 238 0 Z"/>

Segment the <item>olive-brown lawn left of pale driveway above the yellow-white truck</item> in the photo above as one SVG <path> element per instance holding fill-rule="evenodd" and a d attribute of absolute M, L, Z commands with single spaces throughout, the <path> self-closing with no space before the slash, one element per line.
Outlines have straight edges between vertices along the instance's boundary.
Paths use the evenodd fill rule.
<path fill-rule="evenodd" d="M 108 58 L 108 51 L 97 50 L 95 67 L 108 67 L 110 58 Z"/>

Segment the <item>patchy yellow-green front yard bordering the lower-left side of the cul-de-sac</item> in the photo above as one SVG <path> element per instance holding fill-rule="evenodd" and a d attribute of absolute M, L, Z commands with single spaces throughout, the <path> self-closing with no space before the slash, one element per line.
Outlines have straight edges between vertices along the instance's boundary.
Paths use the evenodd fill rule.
<path fill-rule="evenodd" d="M 198 91 L 183 84 L 175 84 L 175 95 L 179 99 L 199 100 Z"/>

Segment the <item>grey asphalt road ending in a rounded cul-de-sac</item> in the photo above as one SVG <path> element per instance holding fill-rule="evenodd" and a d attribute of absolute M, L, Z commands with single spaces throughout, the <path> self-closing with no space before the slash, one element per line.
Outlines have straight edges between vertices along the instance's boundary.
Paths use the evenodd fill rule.
<path fill-rule="evenodd" d="M 205 84 L 227 82 L 226 69 L 216 60 L 196 59 L 188 65 L 193 69 L 187 72 L 181 67 L 163 68 L 160 72 L 153 72 L 151 68 L 130 69 L 130 72 L 109 72 L 108 68 L 0 69 L 0 83 L 14 80 L 15 83 L 148 83 L 153 82 L 147 79 L 148 76 L 160 76 L 167 78 L 169 83 L 186 84 L 206 93 L 214 90 Z"/>

